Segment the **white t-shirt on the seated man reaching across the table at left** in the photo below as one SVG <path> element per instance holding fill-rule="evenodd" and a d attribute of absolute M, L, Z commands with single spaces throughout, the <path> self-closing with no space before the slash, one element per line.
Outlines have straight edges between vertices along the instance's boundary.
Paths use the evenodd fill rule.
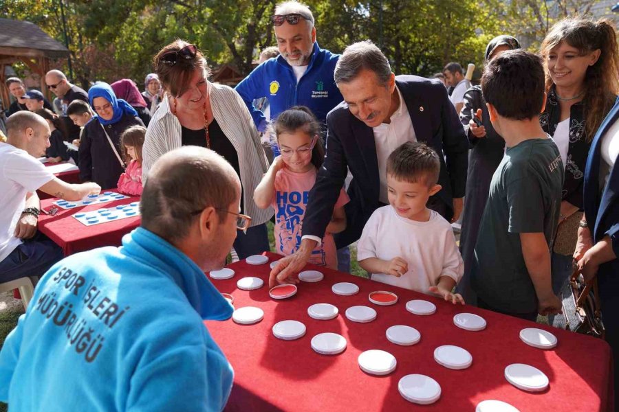
<path fill-rule="evenodd" d="M 0 262 L 21 244 L 14 232 L 25 208 L 26 194 L 52 179 L 54 174 L 28 152 L 0 143 Z"/>

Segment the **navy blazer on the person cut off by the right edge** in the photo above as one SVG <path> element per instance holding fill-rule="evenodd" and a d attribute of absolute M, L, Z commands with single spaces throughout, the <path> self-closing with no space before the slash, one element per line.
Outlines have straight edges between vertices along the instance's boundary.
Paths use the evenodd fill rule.
<path fill-rule="evenodd" d="M 619 120 L 619 99 L 608 113 L 604 122 L 598 129 L 591 149 L 587 157 L 585 168 L 585 193 L 584 209 L 594 242 L 599 242 L 604 236 L 609 236 L 613 244 L 615 255 L 619 256 L 619 168 L 616 167 L 619 159 L 616 159 L 615 167 L 611 170 L 608 183 L 604 192 L 600 190 L 600 148 L 602 137 Z M 615 268 L 615 275 L 619 273 L 619 259 L 608 262 Z M 602 265 L 605 266 L 605 265 Z M 600 271 L 604 269 L 600 266 Z M 609 268 L 610 269 L 610 268 Z"/>

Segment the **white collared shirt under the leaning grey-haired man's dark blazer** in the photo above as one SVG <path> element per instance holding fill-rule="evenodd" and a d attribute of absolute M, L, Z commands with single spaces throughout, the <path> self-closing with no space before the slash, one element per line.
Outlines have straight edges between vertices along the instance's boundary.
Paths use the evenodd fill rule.
<path fill-rule="evenodd" d="M 411 122 L 409 109 L 402 98 L 400 89 L 395 87 L 400 97 L 400 107 L 390 117 L 389 124 L 381 123 L 372 128 L 374 142 L 376 143 L 376 157 L 378 159 L 378 178 L 380 180 L 380 192 L 378 199 L 382 203 L 389 203 L 387 198 L 387 157 L 391 152 L 406 143 L 407 141 L 417 141 L 415 128 Z"/>

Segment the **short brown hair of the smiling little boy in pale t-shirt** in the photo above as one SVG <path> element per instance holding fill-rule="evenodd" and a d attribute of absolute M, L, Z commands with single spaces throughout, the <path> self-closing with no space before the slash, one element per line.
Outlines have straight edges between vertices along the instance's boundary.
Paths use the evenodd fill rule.
<path fill-rule="evenodd" d="M 432 187 L 438 182 L 441 162 L 430 146 L 407 141 L 387 158 L 387 174 L 398 181 L 422 183 Z"/>

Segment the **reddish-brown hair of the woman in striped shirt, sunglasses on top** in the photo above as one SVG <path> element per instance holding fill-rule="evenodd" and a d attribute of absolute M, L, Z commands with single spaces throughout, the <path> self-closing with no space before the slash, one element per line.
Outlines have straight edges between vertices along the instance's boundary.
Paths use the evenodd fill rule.
<path fill-rule="evenodd" d="M 159 76 L 163 88 L 175 98 L 189 89 L 195 69 L 202 68 L 205 78 L 210 76 L 210 67 L 206 64 L 206 58 L 204 58 L 202 52 L 197 47 L 193 58 L 179 58 L 174 65 L 162 61 L 165 60 L 162 59 L 162 56 L 166 56 L 170 52 L 178 52 L 188 45 L 191 45 L 191 43 L 177 39 L 161 49 L 153 58 L 155 73 Z"/>

